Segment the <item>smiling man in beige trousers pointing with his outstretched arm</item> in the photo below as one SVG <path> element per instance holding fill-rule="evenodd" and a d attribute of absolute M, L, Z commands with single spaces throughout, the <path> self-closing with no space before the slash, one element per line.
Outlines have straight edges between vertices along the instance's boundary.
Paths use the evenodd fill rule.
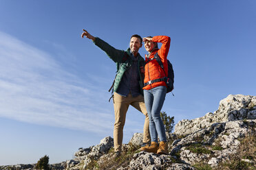
<path fill-rule="evenodd" d="M 134 108 L 145 114 L 142 145 L 150 143 L 149 117 L 147 116 L 142 96 L 144 80 L 142 70 L 144 71 L 145 60 L 138 53 L 140 47 L 142 47 L 142 38 L 137 34 L 131 36 L 129 49 L 124 51 L 111 47 L 107 42 L 92 36 L 85 29 L 83 31 L 82 38 L 85 36 L 91 39 L 95 45 L 105 51 L 107 56 L 117 64 L 118 72 L 113 86 L 115 111 L 114 158 L 116 158 L 120 156 L 120 151 L 122 150 L 123 127 L 129 105 L 134 106 Z"/>

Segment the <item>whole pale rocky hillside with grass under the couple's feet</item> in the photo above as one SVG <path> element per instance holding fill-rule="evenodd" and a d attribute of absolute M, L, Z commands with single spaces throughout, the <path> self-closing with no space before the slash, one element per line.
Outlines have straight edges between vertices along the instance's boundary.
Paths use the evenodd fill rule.
<path fill-rule="evenodd" d="M 220 101 L 217 111 L 207 113 L 204 117 L 182 120 L 175 125 L 172 134 L 167 133 L 169 155 L 158 155 L 138 149 L 142 144 L 142 134 L 136 133 L 129 144 L 122 145 L 122 152 L 131 154 L 123 156 L 122 164 L 112 158 L 113 138 L 103 138 L 99 145 L 79 148 L 74 160 L 50 165 L 52 169 L 196 169 L 200 163 L 213 169 L 237 154 L 237 149 L 246 136 L 256 133 L 256 97 L 228 95 Z M 253 144 L 255 146 L 255 143 Z M 256 148 L 255 153 L 256 153 Z M 255 156 L 256 157 L 256 156 Z M 256 166 L 256 158 L 244 158 L 243 161 Z M 34 165 L 16 165 L 17 169 L 32 169 Z M 32 167 L 31 167 L 32 166 Z M 0 167 L 8 169 L 8 167 Z M 10 169 L 10 167 L 9 167 Z"/>

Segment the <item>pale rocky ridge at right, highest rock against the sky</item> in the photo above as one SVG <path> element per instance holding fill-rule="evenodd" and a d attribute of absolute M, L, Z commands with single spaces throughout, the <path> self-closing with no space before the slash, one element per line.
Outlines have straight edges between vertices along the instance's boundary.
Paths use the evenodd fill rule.
<path fill-rule="evenodd" d="M 228 95 L 220 101 L 217 111 L 207 113 L 204 117 L 182 120 L 175 125 L 174 134 L 186 135 L 210 127 L 213 123 L 256 119 L 256 96 Z"/>

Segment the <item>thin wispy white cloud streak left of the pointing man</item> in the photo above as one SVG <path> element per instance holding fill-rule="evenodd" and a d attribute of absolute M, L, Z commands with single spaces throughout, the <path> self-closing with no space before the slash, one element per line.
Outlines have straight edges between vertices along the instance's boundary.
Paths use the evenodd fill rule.
<path fill-rule="evenodd" d="M 49 53 L 0 32 L 0 117 L 105 132 L 114 120 L 99 107 L 103 95 Z"/>

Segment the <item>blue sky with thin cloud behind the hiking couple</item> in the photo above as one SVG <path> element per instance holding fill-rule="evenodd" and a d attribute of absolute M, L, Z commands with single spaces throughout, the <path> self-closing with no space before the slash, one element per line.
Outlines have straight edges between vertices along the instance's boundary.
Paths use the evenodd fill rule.
<path fill-rule="evenodd" d="M 116 49 L 132 34 L 170 36 L 175 97 L 162 111 L 178 123 L 214 112 L 229 94 L 256 95 L 255 19 L 254 0 L 1 0 L 0 165 L 70 160 L 113 136 L 116 65 L 82 29 Z M 124 143 L 143 123 L 129 108 Z"/>

